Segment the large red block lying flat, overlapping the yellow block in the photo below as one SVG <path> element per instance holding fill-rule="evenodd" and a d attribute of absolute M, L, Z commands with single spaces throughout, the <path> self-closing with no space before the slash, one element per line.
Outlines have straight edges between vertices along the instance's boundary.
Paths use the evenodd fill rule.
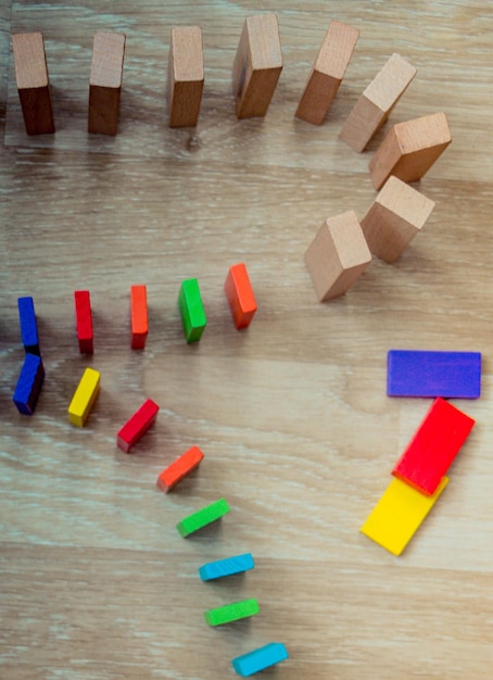
<path fill-rule="evenodd" d="M 417 429 L 392 475 L 432 495 L 466 441 L 475 420 L 439 398 Z"/>

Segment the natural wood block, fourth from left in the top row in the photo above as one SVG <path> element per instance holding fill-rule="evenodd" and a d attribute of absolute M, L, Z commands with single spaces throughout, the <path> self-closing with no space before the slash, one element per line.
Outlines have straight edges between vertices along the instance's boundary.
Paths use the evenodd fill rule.
<path fill-rule="evenodd" d="M 264 116 L 282 71 L 276 14 L 248 16 L 232 66 L 238 118 Z"/>

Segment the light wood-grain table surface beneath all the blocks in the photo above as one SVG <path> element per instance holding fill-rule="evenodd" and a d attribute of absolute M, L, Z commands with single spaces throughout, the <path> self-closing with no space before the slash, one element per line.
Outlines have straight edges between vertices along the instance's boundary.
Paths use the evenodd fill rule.
<path fill-rule="evenodd" d="M 489 0 L 0 3 L 0 677 L 227 680 L 270 641 L 268 678 L 486 680 L 493 664 L 493 197 Z M 103 12 L 104 10 L 104 12 Z M 238 121 L 231 66 L 246 16 L 277 12 L 285 67 L 263 119 Z M 332 18 L 361 36 L 321 126 L 294 118 Z M 203 29 L 197 129 L 169 129 L 170 28 Z M 127 36 L 118 135 L 88 136 L 93 33 Z M 53 136 L 25 134 L 11 33 L 45 35 Z M 339 139 L 359 93 L 399 52 L 417 76 L 363 154 Z M 320 304 L 303 254 L 326 217 L 375 199 L 368 161 L 394 123 L 444 111 L 453 141 L 416 187 L 437 202 L 401 260 L 374 260 Z M 237 331 L 224 294 L 245 262 L 258 302 Z M 177 295 L 199 279 L 207 328 L 185 342 Z M 129 289 L 150 332 L 130 350 Z M 89 289 L 94 354 L 78 352 L 73 292 Z M 12 393 L 16 299 L 33 295 L 46 382 L 33 417 Z M 359 533 L 430 401 L 385 395 L 390 349 L 480 351 L 477 425 L 401 557 Z M 101 392 L 85 428 L 66 410 L 85 366 Z M 155 426 L 125 454 L 116 431 L 151 398 Z M 169 494 L 159 473 L 205 458 Z M 194 537 L 176 524 L 226 498 Z M 205 562 L 253 571 L 203 583 Z M 203 612 L 257 597 L 213 629 Z"/>

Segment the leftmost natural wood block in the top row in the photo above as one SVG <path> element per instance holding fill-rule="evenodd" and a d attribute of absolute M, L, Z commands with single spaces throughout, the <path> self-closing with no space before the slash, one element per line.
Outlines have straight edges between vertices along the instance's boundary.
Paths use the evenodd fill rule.
<path fill-rule="evenodd" d="M 15 79 L 28 135 L 54 133 L 45 39 L 42 33 L 12 36 Z"/>

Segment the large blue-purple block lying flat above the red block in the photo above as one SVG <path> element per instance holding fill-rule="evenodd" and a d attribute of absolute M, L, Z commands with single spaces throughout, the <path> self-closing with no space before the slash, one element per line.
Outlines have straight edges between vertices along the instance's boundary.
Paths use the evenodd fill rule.
<path fill-rule="evenodd" d="M 478 399 L 481 395 L 481 353 L 390 350 L 387 394 Z"/>

